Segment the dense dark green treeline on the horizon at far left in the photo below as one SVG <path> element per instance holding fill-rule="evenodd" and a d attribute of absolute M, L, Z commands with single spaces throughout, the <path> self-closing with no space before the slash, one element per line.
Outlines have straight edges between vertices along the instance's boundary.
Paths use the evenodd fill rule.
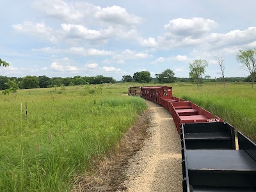
<path fill-rule="evenodd" d="M 102 84 L 115 83 L 113 77 L 95 76 L 95 77 L 47 77 L 47 76 L 26 76 L 26 77 L 6 77 L 0 76 L 0 90 L 8 89 L 6 83 L 8 79 L 15 81 L 20 89 L 29 88 L 49 88 L 53 86 L 72 86 L 79 84 Z"/>

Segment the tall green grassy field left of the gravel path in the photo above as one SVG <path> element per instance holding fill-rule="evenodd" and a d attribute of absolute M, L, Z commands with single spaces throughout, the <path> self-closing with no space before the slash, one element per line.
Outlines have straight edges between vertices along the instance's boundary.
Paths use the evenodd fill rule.
<path fill-rule="evenodd" d="M 0 95 L 0 191 L 69 191 L 147 108 L 122 84 L 65 89 Z"/>

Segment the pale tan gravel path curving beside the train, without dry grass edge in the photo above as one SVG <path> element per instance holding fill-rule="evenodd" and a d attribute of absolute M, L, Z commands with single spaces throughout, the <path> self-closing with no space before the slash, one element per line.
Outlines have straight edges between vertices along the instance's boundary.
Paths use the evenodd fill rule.
<path fill-rule="evenodd" d="M 172 115 L 162 106 L 148 101 L 150 137 L 129 160 L 127 191 L 182 191 L 179 134 Z"/>

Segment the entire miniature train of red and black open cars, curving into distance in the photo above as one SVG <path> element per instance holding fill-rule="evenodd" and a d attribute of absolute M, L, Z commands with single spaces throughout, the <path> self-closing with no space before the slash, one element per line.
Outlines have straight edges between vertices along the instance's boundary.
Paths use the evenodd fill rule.
<path fill-rule="evenodd" d="M 180 134 L 183 191 L 256 191 L 256 145 L 220 117 L 173 97 L 170 86 L 130 87 L 167 109 Z"/>

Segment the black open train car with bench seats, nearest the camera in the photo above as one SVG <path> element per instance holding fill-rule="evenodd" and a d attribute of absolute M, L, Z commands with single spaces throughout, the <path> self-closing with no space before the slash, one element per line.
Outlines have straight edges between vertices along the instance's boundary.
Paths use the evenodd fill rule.
<path fill-rule="evenodd" d="M 238 131 L 236 150 L 234 127 L 227 123 L 182 124 L 181 129 L 184 192 L 256 191 L 255 143 Z"/>

